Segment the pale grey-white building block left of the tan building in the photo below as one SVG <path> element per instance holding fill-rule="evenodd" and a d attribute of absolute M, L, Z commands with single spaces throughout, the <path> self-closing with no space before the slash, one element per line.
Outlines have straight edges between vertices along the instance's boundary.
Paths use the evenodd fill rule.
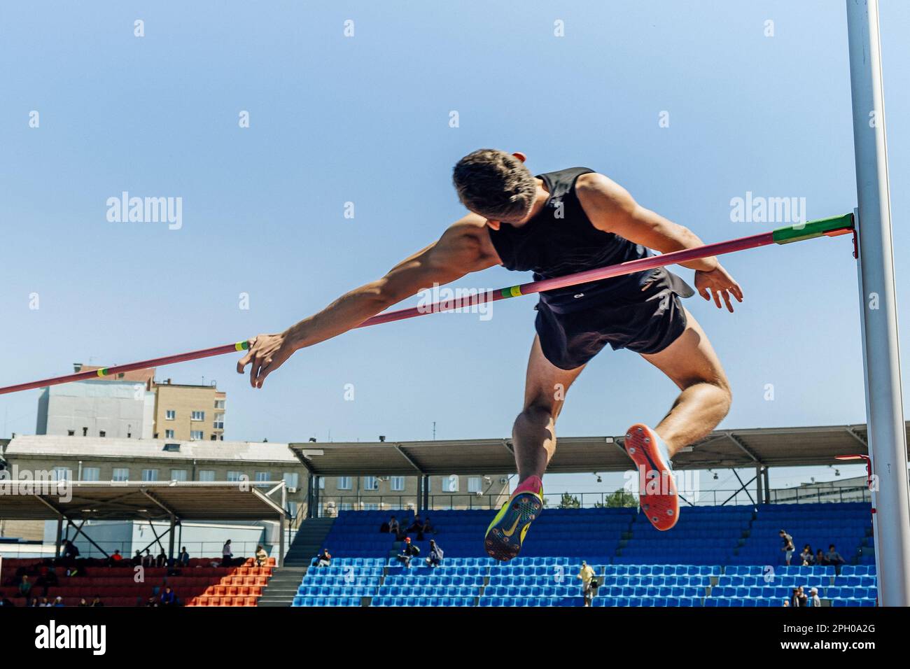
<path fill-rule="evenodd" d="M 36 434 L 151 439 L 155 392 L 139 380 L 86 380 L 50 386 L 38 397 Z"/>

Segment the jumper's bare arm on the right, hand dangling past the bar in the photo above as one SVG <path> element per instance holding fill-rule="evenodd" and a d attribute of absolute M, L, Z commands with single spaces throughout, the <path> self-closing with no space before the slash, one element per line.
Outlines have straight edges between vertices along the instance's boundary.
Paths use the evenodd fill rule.
<path fill-rule="evenodd" d="M 643 208 L 629 191 L 602 174 L 582 175 L 575 191 L 593 226 L 604 232 L 612 232 L 661 253 L 703 245 L 692 230 Z M 733 311 L 731 295 L 743 301 L 743 289 L 717 258 L 699 258 L 681 264 L 695 270 L 695 288 L 704 299 L 713 298 L 718 309 L 723 299 L 727 309 Z"/>

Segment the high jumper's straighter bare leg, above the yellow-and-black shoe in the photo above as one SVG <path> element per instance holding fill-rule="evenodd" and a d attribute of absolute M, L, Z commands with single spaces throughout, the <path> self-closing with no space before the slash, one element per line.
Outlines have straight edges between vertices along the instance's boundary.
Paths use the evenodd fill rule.
<path fill-rule="evenodd" d="M 512 427 L 518 480 L 543 476 L 556 450 L 556 419 L 566 392 L 584 366 L 561 370 L 543 357 L 541 341 L 534 337 L 524 388 L 524 409 Z"/>

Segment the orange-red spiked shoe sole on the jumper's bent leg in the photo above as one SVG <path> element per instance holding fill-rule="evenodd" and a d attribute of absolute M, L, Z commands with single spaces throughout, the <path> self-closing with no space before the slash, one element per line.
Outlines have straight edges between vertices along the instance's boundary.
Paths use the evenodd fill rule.
<path fill-rule="evenodd" d="M 658 530 L 670 530 L 680 517 L 680 498 L 666 444 L 657 432 L 636 423 L 626 432 L 622 446 L 638 466 L 642 512 Z"/>

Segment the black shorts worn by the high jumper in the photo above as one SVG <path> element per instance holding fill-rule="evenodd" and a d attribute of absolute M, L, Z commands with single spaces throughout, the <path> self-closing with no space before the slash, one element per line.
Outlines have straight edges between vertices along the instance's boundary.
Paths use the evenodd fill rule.
<path fill-rule="evenodd" d="M 644 289 L 590 308 L 556 312 L 541 299 L 534 323 L 543 355 L 561 370 L 586 364 L 604 346 L 658 353 L 686 328 L 680 297 L 694 294 L 682 279 L 664 270 Z"/>

